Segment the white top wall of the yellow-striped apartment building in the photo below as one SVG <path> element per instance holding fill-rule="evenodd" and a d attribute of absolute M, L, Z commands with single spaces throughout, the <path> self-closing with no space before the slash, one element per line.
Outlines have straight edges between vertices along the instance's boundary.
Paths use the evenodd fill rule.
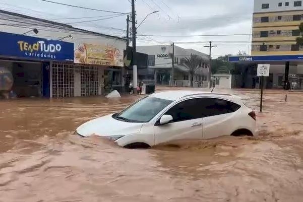
<path fill-rule="evenodd" d="M 298 0 L 295 0 L 298 1 Z M 279 12 L 279 11 L 299 11 L 303 10 L 303 4 L 301 7 L 294 7 L 294 0 L 255 0 L 254 13 L 267 13 L 267 12 Z M 285 6 L 285 2 L 289 2 L 289 6 Z M 281 7 L 278 4 L 282 3 Z M 269 4 L 269 9 L 262 9 L 262 4 Z"/>

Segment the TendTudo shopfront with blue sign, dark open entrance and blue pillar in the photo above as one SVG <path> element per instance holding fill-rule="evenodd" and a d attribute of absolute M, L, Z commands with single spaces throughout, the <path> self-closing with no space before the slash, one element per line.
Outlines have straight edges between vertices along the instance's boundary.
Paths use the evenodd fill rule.
<path fill-rule="evenodd" d="M 12 76 L 1 82 L 10 87 L 0 90 L 16 97 L 51 97 L 51 62 L 74 60 L 74 44 L 69 42 L 0 32 L 0 43 L 0 68 Z"/>

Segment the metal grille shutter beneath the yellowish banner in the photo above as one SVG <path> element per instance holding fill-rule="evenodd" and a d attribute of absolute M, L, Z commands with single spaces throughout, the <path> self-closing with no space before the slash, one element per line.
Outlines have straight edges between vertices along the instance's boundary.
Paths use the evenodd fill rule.
<path fill-rule="evenodd" d="M 81 66 L 81 96 L 98 95 L 98 68 Z"/>

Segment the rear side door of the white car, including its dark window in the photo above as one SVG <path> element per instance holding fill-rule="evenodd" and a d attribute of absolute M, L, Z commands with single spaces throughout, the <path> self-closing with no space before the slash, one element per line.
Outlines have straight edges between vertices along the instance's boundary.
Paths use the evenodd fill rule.
<path fill-rule="evenodd" d="M 229 136 L 235 125 L 235 116 L 241 106 L 218 98 L 203 98 L 203 138 Z"/>

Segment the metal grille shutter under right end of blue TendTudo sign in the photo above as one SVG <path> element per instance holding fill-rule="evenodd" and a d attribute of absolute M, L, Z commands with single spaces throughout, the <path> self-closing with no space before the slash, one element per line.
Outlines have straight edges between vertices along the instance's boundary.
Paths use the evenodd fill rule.
<path fill-rule="evenodd" d="M 52 63 L 52 96 L 74 96 L 74 64 Z"/>

